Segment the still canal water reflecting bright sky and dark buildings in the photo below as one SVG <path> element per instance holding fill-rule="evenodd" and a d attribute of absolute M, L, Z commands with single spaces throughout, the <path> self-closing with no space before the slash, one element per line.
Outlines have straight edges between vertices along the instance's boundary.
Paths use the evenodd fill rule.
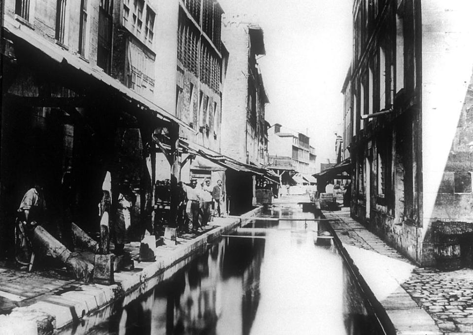
<path fill-rule="evenodd" d="M 270 207 L 150 291 L 62 334 L 384 334 L 326 235 L 295 201 Z"/>

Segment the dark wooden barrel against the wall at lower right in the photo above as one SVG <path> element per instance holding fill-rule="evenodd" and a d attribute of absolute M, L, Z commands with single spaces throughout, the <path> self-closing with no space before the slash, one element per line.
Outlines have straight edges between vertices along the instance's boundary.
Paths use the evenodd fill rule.
<path fill-rule="evenodd" d="M 462 267 L 460 241 L 456 235 L 443 235 L 434 245 L 437 268 L 453 271 Z"/>

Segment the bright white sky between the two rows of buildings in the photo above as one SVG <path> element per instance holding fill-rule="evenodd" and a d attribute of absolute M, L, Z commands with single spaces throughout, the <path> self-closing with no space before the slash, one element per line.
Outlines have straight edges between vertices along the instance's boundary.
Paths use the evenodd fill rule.
<path fill-rule="evenodd" d="M 343 135 L 340 93 L 352 55 L 351 0 L 219 0 L 225 15 L 247 14 L 264 30 L 258 60 L 270 104 L 266 119 L 310 136 L 316 164 L 335 159 Z"/>

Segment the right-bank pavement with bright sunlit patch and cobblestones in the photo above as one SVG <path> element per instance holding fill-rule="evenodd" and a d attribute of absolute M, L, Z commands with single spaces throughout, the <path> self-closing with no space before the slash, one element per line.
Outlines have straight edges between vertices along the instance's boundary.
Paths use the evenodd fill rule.
<path fill-rule="evenodd" d="M 330 224 L 398 334 L 473 334 L 473 269 L 415 266 L 353 220 L 349 208 L 323 213 L 338 220 Z"/>

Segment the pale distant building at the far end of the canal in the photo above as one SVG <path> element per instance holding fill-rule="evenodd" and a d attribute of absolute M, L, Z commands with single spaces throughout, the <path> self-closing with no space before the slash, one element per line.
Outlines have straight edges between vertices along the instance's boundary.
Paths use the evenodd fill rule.
<path fill-rule="evenodd" d="M 315 173 L 315 149 L 310 145 L 310 138 L 302 133 L 274 124 L 268 136 L 268 162 L 271 169 L 277 168 L 277 162 L 286 157 L 291 161 L 294 171 L 306 176 Z"/>

